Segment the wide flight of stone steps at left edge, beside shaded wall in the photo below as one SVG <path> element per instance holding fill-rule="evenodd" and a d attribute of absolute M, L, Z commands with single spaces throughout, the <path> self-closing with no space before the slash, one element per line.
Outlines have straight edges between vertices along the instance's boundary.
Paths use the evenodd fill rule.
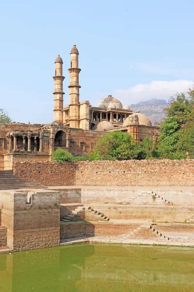
<path fill-rule="evenodd" d="M 12 170 L 0 170 L 0 190 L 23 188 L 46 188 L 31 179 L 18 179 Z"/>

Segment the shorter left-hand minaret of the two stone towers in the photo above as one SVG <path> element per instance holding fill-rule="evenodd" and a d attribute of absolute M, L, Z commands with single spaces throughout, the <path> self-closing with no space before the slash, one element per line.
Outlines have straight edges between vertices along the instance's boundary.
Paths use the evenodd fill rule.
<path fill-rule="evenodd" d="M 55 59 L 55 76 L 54 79 L 54 122 L 63 122 L 63 60 L 60 55 Z"/>

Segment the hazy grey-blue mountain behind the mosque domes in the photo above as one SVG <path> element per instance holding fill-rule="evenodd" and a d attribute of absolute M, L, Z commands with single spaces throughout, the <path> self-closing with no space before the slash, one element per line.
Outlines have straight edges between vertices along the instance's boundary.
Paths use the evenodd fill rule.
<path fill-rule="evenodd" d="M 139 110 L 144 113 L 154 125 L 154 123 L 163 121 L 165 116 L 164 109 L 168 107 L 168 104 L 164 99 L 152 98 L 147 101 L 140 101 L 137 104 L 131 104 L 129 107 L 133 111 Z"/>

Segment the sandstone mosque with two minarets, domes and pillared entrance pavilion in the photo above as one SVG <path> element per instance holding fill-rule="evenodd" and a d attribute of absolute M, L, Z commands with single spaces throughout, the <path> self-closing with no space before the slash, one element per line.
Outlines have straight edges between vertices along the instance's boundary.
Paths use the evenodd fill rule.
<path fill-rule="evenodd" d="M 16 160 L 48 161 L 58 147 L 82 155 L 89 154 L 97 139 L 112 131 L 123 131 L 138 142 L 145 137 L 157 140 L 160 128 L 139 111 L 112 95 L 102 99 L 98 107 L 89 101 L 80 102 L 79 52 L 76 45 L 70 51 L 69 105 L 63 105 L 63 60 L 55 59 L 54 121 L 50 124 L 0 124 L 0 170 L 13 168 Z"/>

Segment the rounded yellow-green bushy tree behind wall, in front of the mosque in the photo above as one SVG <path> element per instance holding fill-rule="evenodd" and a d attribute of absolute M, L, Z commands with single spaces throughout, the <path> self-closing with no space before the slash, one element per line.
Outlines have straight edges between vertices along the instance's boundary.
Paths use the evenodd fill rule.
<path fill-rule="evenodd" d="M 116 131 L 101 136 L 95 150 L 98 153 L 98 157 L 101 159 L 126 160 L 133 158 L 135 146 L 135 140 L 131 135 Z"/>

